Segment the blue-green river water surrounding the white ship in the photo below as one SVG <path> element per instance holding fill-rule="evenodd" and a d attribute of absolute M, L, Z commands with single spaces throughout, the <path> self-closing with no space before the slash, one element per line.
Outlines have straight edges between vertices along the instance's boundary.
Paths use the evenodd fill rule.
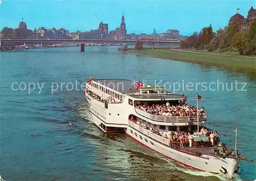
<path fill-rule="evenodd" d="M 80 86 L 90 73 L 94 78 L 132 80 L 135 76 L 152 84 L 162 80 L 160 85 L 169 82 L 171 91 L 175 88 L 175 93 L 187 94 L 189 100 L 199 93 L 205 99 L 200 106 L 207 111 L 206 126 L 220 131 L 222 142 L 230 147 L 234 146 L 233 130 L 238 127 L 238 149 L 256 160 L 255 73 L 123 54 L 117 49 L 0 53 L 0 174 L 5 180 L 225 180 L 221 174 L 186 169 L 123 134 L 101 132 L 91 122 Z M 221 84 L 219 91 L 210 84 L 218 81 L 224 83 L 224 90 Z M 236 81 L 240 83 L 237 90 Z M 34 90 L 31 82 L 36 85 Z M 182 90 L 182 83 L 186 86 L 188 82 L 194 87 L 189 83 L 188 89 Z M 196 90 L 197 82 L 205 82 L 207 90 L 200 86 Z M 226 83 L 228 89 L 233 84 L 233 90 L 226 90 Z M 245 87 L 243 83 L 247 83 Z M 255 166 L 255 162 L 241 162 L 234 180 L 254 180 Z"/>

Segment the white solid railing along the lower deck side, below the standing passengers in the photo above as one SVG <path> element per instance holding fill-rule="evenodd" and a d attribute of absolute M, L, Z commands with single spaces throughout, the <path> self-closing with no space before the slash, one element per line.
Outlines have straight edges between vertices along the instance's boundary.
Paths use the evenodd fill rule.
<path fill-rule="evenodd" d="M 169 139 L 161 137 L 160 135 L 154 134 L 151 130 L 145 129 L 130 120 L 129 120 L 129 125 L 134 129 L 138 130 L 140 133 L 152 138 L 153 140 L 169 146 Z"/>

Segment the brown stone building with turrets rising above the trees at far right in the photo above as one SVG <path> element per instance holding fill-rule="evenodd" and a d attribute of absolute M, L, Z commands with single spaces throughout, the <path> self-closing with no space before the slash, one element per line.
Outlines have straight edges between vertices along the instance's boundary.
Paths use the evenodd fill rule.
<path fill-rule="evenodd" d="M 243 31 L 243 30 L 249 29 L 250 24 L 255 21 L 256 21 L 256 9 L 253 9 L 253 7 L 251 7 L 248 11 L 246 18 L 239 13 L 234 14 L 229 19 L 228 25 L 238 24 L 240 30 Z"/>

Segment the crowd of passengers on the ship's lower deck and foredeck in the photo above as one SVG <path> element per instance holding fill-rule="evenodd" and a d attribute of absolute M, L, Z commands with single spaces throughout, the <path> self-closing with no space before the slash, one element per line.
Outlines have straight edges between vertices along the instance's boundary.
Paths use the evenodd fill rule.
<path fill-rule="evenodd" d="M 135 124 L 141 126 L 142 128 L 151 131 L 153 134 L 158 135 L 160 137 L 163 137 L 165 139 L 169 139 L 170 144 L 176 145 L 177 143 L 182 142 L 186 146 L 188 146 L 188 135 L 193 135 L 194 131 L 178 131 L 176 130 L 171 135 L 167 134 L 166 132 L 161 132 L 157 130 L 156 125 L 153 125 L 153 127 L 147 126 L 143 121 L 137 121 L 136 117 L 131 117 L 130 121 L 134 122 Z M 219 134 L 217 131 L 214 131 L 212 129 L 208 129 L 204 126 L 202 126 L 201 131 L 199 134 L 204 135 L 205 137 L 208 137 L 208 140 L 210 140 L 210 134 L 214 134 L 216 140 L 219 140 Z"/>

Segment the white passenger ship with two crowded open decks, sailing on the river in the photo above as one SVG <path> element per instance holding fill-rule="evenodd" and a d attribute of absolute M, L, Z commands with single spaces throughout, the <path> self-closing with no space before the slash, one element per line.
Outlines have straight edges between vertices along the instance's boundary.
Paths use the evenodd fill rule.
<path fill-rule="evenodd" d="M 205 137 L 197 133 L 199 124 L 206 122 L 206 115 L 198 116 L 198 111 L 198 117 L 157 116 L 135 106 L 142 103 L 152 105 L 166 102 L 173 105 L 184 102 L 186 97 L 151 85 L 136 86 L 138 84 L 135 85 L 131 80 L 93 80 L 90 75 L 84 96 L 90 104 L 93 122 L 102 131 L 125 132 L 135 141 L 165 155 L 168 159 L 199 171 L 224 173 L 228 178 L 237 172 L 240 160 L 247 160 L 244 155 L 239 155 L 238 151 L 234 153 L 225 145 L 220 146 L 216 134 Z M 185 131 L 191 133 L 186 142 L 183 142 L 184 139 L 172 138 L 174 133 Z M 194 131 L 196 133 L 193 134 Z M 201 143 L 201 146 L 198 143 Z M 222 154 L 223 151 L 233 151 L 233 154 Z"/>

